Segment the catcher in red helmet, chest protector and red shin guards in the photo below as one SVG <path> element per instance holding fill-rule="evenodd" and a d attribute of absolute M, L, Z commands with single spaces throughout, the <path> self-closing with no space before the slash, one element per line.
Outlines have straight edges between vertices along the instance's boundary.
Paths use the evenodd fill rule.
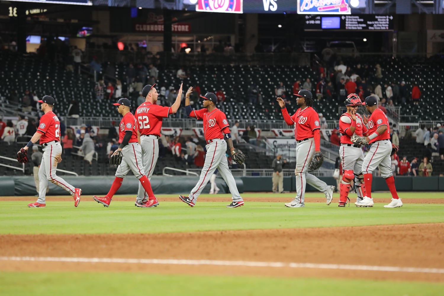
<path fill-rule="evenodd" d="M 342 164 L 342 179 L 339 185 L 339 207 L 345 207 L 347 204 L 350 183 L 353 179 L 355 180 L 357 201 L 361 201 L 365 197 L 364 177 L 361 172 L 362 162 L 364 161 L 362 145 L 354 144 L 350 139 L 353 134 L 362 137 L 368 133 L 361 115 L 356 113 L 361 103 L 361 99 L 359 99 L 357 94 L 348 95 L 345 100 L 347 112 L 339 118 L 339 132 L 342 134 L 341 146 L 339 147 L 339 158 L 341 158 Z"/>

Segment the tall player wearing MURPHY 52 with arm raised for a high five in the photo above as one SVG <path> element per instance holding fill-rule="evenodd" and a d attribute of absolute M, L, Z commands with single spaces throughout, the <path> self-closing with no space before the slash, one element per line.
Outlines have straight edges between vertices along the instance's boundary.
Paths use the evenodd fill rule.
<path fill-rule="evenodd" d="M 182 84 L 183 83 L 180 84 L 176 101 L 171 107 L 156 105 L 159 94 L 154 87 L 155 84 L 145 85 L 142 90 L 142 96 L 146 101 L 137 108 L 135 118 L 139 123 L 143 170 L 150 181 L 157 163 L 157 158 L 159 157 L 159 138 L 162 120 L 164 117 L 176 113 L 179 109 L 182 97 Z M 137 198 L 134 204 L 138 207 L 143 207 L 147 201 L 147 192 L 143 189 L 142 184 L 139 184 L 139 191 L 137 192 Z"/>

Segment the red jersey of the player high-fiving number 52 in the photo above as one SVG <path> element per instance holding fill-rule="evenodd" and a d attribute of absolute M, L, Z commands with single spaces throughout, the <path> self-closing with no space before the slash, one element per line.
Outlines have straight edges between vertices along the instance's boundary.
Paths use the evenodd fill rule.
<path fill-rule="evenodd" d="M 208 109 L 203 108 L 200 110 L 191 111 L 190 117 L 195 117 L 196 119 L 203 119 L 203 134 L 205 141 L 212 139 L 222 139 L 222 130 L 228 126 L 228 121 L 226 120 L 225 113 L 215 108 L 213 111 L 208 113 Z"/>

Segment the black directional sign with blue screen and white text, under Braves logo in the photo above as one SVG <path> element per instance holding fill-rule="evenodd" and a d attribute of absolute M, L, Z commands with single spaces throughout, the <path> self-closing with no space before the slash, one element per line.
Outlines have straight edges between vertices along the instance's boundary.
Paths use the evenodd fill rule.
<path fill-rule="evenodd" d="M 392 31 L 393 16 L 305 16 L 304 30 Z"/>

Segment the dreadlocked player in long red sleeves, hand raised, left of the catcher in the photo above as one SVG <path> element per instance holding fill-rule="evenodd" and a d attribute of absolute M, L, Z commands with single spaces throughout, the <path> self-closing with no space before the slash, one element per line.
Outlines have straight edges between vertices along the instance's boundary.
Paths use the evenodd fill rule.
<path fill-rule="evenodd" d="M 316 176 L 307 174 L 308 164 L 313 158 L 313 154 L 321 152 L 321 134 L 319 133 L 321 126 L 317 112 L 311 107 L 313 104 L 312 94 L 308 90 L 300 90 L 299 93 L 293 95 L 297 96 L 296 103 L 300 108 L 292 116 L 288 114 L 284 100 L 282 98 L 276 99 L 287 125 L 292 126 L 294 124 L 294 137 L 297 142 L 296 168 L 294 170 L 297 195 L 293 201 L 286 203 L 285 206 L 289 208 L 305 207 L 306 183 L 322 191 L 327 199 L 327 205 L 329 205 L 333 199 L 333 191 L 336 186 L 329 186 Z"/>

